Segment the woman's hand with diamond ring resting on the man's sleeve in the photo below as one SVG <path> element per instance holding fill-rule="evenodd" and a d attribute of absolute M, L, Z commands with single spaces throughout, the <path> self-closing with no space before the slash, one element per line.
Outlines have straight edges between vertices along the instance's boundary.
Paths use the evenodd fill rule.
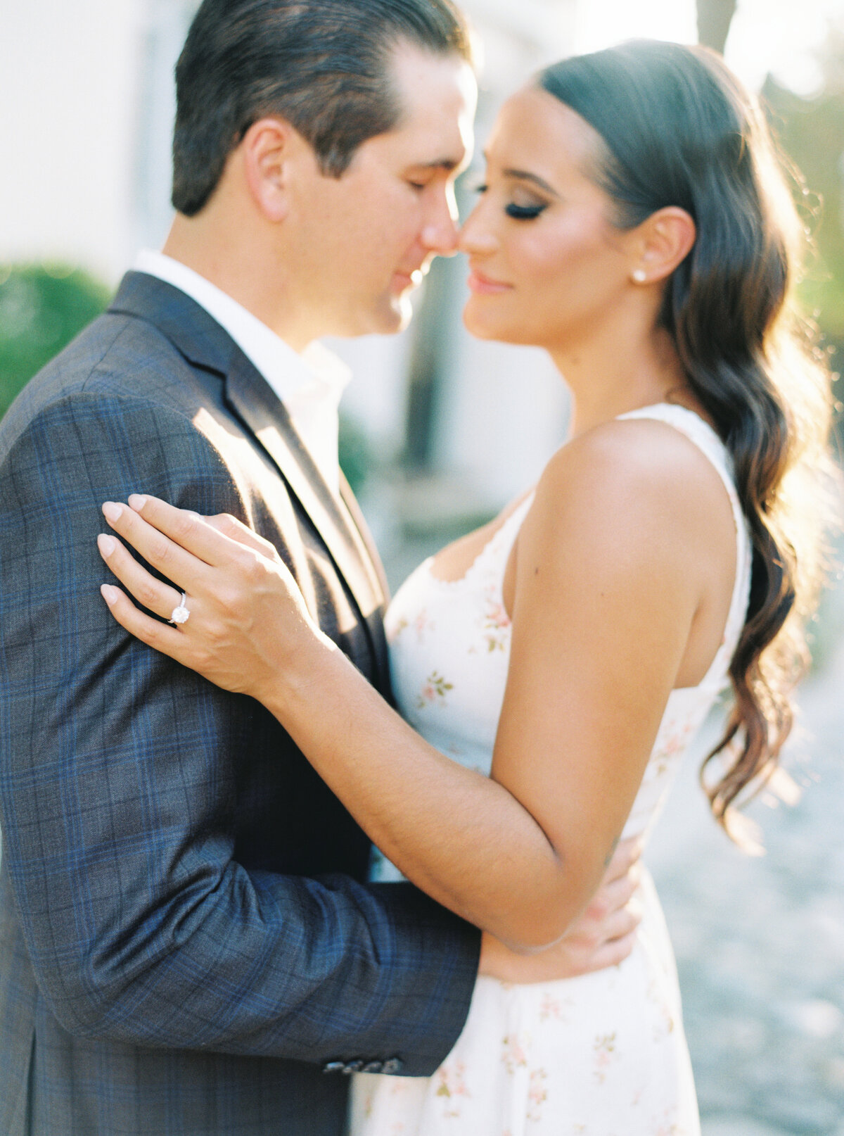
<path fill-rule="evenodd" d="M 190 615 L 169 627 L 106 584 L 103 599 L 127 632 L 217 686 L 258 700 L 285 675 L 301 675 L 303 652 L 329 645 L 268 541 L 227 515 L 200 517 L 151 496 L 128 501 L 107 501 L 103 516 L 176 587 L 152 576 L 111 536 L 98 537 L 100 554 L 149 611 L 169 619 L 184 592 Z"/>

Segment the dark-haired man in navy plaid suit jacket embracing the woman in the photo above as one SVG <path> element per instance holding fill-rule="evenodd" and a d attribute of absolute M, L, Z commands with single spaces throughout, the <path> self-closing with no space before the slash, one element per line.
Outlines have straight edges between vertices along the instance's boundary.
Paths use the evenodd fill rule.
<path fill-rule="evenodd" d="M 310 344 L 407 321 L 454 249 L 474 99 L 449 0 L 204 0 L 166 256 L 0 426 L 5 1134 L 333 1136 L 344 1074 L 428 1075 L 460 1031 L 476 930 L 362 883 L 366 836 L 278 724 L 114 624 L 94 537 L 131 492 L 239 516 L 387 693 Z"/>

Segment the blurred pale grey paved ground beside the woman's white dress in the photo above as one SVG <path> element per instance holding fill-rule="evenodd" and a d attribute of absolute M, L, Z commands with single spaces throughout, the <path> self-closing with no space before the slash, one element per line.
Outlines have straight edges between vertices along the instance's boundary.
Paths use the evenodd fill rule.
<path fill-rule="evenodd" d="M 803 797 L 752 809 L 767 854 L 729 843 L 688 763 L 649 855 L 704 1136 L 844 1136 L 844 643 L 801 702 Z"/>

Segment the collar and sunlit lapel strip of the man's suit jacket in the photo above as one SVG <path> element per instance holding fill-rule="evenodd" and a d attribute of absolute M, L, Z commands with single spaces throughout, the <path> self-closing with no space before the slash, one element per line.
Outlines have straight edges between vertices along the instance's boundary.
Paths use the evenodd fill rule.
<path fill-rule="evenodd" d="M 189 295 L 145 273 L 127 273 L 109 311 L 145 319 L 158 327 L 193 366 L 225 382 L 229 408 L 269 454 L 325 542 L 369 628 L 382 674 L 386 646 L 381 615 L 386 586 L 366 525 L 344 485 L 339 499 L 326 485 L 299 437 L 284 403 L 226 331 Z"/>

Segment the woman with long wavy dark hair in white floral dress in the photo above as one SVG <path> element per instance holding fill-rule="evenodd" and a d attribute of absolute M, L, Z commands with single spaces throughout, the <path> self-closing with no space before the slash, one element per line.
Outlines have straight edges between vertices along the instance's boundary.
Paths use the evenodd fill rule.
<path fill-rule="evenodd" d="M 390 860 L 510 968 L 515 985 L 478 979 L 434 1078 L 358 1078 L 356 1136 L 699 1131 L 647 880 L 620 967 L 532 979 L 616 842 L 650 832 L 727 678 L 707 791 L 728 829 L 788 732 L 829 412 L 788 323 L 799 232 L 760 112 L 712 55 L 628 43 L 509 100 L 462 233 L 465 318 L 549 350 L 571 437 L 396 595 L 407 721 L 236 521 L 137 498 L 112 524 L 178 588 L 118 544 L 106 559 L 128 591 L 165 618 L 184 591 L 190 610 L 168 628 L 107 586 L 118 621 L 264 702 Z M 165 560 L 156 528 L 177 537 Z"/>

